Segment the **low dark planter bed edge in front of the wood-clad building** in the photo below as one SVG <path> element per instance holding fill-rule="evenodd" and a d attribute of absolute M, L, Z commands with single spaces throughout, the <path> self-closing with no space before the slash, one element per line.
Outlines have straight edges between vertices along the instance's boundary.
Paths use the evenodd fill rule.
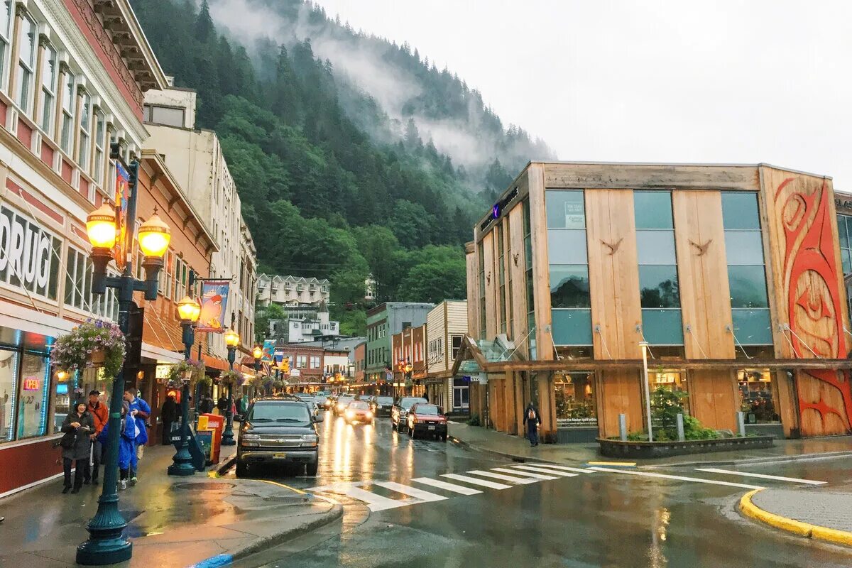
<path fill-rule="evenodd" d="M 774 436 L 746 438 L 694 439 L 685 442 L 622 442 L 619 439 L 598 438 L 601 453 L 607 457 L 653 459 L 655 457 L 704 454 L 711 451 L 757 450 L 771 448 Z"/>

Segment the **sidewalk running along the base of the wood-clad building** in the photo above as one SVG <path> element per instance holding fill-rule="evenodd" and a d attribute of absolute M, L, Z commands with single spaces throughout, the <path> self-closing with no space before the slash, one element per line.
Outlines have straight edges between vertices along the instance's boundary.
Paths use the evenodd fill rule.
<path fill-rule="evenodd" d="M 540 444 L 531 447 L 527 439 L 464 423 L 450 422 L 453 441 L 475 450 L 487 451 L 512 460 L 541 462 L 612 461 L 598 453 L 597 444 Z M 719 451 L 688 456 L 672 456 L 656 460 L 639 460 L 640 468 L 734 465 L 759 462 L 852 456 L 852 436 L 819 439 L 776 439 L 774 447 L 763 450 Z"/>

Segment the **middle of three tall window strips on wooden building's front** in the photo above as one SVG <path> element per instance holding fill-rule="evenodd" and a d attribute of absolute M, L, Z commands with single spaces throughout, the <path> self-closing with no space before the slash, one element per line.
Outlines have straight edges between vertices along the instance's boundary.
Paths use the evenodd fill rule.
<path fill-rule="evenodd" d="M 653 345 L 682 345 L 671 192 L 633 192 L 642 334 Z"/>

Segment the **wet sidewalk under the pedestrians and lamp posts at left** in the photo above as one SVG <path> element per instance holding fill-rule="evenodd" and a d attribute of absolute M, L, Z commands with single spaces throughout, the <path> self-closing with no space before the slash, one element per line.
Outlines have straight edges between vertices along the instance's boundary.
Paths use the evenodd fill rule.
<path fill-rule="evenodd" d="M 171 446 L 148 447 L 139 483 L 118 492 L 128 523 L 124 534 L 133 542 L 133 558 L 118 566 L 185 568 L 220 554 L 237 558 L 343 513 L 340 505 L 285 485 L 205 473 L 170 477 L 166 468 L 174 453 Z M 6 517 L 0 566 L 76 565 L 76 548 L 89 536 L 85 527 L 97 510 L 101 486 L 83 485 L 78 495 L 62 495 L 61 489 L 59 479 L 0 500 L 0 516 Z"/>

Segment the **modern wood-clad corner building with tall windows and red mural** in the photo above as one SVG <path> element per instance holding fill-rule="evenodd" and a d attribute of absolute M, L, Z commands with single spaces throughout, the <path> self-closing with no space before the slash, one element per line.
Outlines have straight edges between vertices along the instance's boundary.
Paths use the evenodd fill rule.
<path fill-rule="evenodd" d="M 644 428 L 648 341 L 650 388 L 687 393 L 705 426 L 743 410 L 750 430 L 849 433 L 843 243 L 826 176 L 533 162 L 475 226 L 453 371 L 477 371 L 487 425 L 521 432 L 533 399 L 544 439 L 588 440 L 622 413 Z"/>

